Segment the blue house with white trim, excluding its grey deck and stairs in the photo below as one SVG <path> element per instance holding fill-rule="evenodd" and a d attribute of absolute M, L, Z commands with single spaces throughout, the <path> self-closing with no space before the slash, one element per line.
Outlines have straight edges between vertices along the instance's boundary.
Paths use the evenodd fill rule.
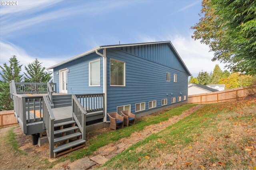
<path fill-rule="evenodd" d="M 184 103 L 191 75 L 170 41 L 99 46 L 47 69 L 57 93 L 105 94 L 105 122 L 109 112 Z"/>

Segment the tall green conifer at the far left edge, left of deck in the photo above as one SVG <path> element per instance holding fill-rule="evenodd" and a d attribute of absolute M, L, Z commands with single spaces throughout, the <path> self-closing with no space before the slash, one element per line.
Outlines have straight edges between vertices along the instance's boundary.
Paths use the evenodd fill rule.
<path fill-rule="evenodd" d="M 22 81 L 22 74 L 20 74 L 22 65 L 17 60 L 16 56 L 13 55 L 9 59 L 9 66 L 4 63 L 0 66 L 2 73 L 0 75 L 2 80 L 0 80 L 0 110 L 11 110 L 13 109 L 13 101 L 10 98 L 10 87 L 9 82 L 14 80 L 15 82 Z"/>

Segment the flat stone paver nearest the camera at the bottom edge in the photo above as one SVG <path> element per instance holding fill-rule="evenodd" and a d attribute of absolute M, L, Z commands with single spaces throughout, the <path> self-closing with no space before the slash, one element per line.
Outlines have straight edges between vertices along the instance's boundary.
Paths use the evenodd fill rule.
<path fill-rule="evenodd" d="M 88 157 L 84 157 L 75 162 L 72 162 L 68 166 L 71 170 L 86 170 L 94 166 L 95 164 L 96 162 L 90 160 Z"/>

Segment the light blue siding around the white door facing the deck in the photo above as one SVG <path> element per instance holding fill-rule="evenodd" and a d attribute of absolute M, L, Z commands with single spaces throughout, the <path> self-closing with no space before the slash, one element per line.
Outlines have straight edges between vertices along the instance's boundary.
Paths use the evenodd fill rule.
<path fill-rule="evenodd" d="M 100 59 L 100 86 L 89 86 L 89 62 Z M 81 57 L 75 61 L 54 68 L 54 83 L 59 93 L 59 70 L 68 68 L 68 94 L 103 93 L 103 61 L 96 53 Z"/>

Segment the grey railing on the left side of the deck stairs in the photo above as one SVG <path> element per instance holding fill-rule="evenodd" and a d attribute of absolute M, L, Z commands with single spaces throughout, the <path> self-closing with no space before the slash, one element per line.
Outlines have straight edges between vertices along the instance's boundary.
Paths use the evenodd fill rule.
<path fill-rule="evenodd" d="M 46 134 L 50 144 L 50 158 L 54 157 L 54 114 L 51 106 L 48 103 L 46 96 L 43 96 L 43 129 L 46 129 Z"/>

